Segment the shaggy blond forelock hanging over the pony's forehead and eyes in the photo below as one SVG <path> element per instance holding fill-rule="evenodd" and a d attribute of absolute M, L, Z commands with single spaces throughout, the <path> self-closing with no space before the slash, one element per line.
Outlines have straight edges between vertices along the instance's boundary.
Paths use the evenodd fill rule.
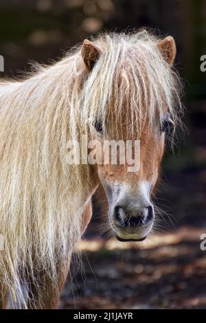
<path fill-rule="evenodd" d="M 104 129 L 109 122 L 113 127 L 124 121 L 128 132 L 135 129 L 140 137 L 146 124 L 152 131 L 165 115 L 170 115 L 174 129 L 181 123 L 180 78 L 159 52 L 158 42 L 146 30 L 106 34 L 94 40 L 101 54 L 82 91 L 82 120 L 90 129 L 95 118 Z M 112 122 L 108 121 L 110 112 Z"/>

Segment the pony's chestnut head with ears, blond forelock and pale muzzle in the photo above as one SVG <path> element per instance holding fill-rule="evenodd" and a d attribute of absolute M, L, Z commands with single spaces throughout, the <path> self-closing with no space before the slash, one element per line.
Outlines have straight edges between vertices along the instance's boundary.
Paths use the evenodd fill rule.
<path fill-rule="evenodd" d="M 99 151 L 95 166 L 108 199 L 108 219 L 119 241 L 142 241 L 155 219 L 151 194 L 159 177 L 165 131 L 178 122 L 179 80 L 172 69 L 174 38 L 158 39 L 148 32 L 113 34 L 84 41 L 82 58 L 87 71 L 84 118 L 91 137 L 113 141 L 117 162 Z M 136 145 L 135 143 L 137 143 Z M 129 171 L 123 155 L 130 149 L 139 166 Z M 130 142 L 130 146 L 126 145 Z M 137 149 L 138 148 L 138 149 Z M 137 164 L 138 164 L 137 163 Z"/>

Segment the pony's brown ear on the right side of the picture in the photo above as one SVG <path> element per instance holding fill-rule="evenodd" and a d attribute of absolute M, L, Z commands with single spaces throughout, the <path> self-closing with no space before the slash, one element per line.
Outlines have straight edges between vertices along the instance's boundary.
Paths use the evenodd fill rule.
<path fill-rule="evenodd" d="M 157 47 L 159 48 L 166 62 L 172 65 L 176 56 L 176 45 L 174 38 L 172 36 L 163 38 L 161 41 L 159 41 Z"/>

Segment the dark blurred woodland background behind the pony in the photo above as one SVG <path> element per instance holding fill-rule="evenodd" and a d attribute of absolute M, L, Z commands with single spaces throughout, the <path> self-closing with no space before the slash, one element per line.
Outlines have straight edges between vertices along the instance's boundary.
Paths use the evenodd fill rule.
<path fill-rule="evenodd" d="M 165 154 L 155 203 L 166 214 L 141 245 L 102 234 L 98 206 L 80 244 L 82 263 L 62 293 L 62 309 L 206 308 L 206 1 L 1 0 L 0 55 L 19 76 L 29 61 L 49 63 L 98 32 L 150 27 L 174 36 L 185 87 L 187 131 Z M 102 223 L 102 224 L 101 224 Z M 84 267 L 84 268 L 83 268 Z M 82 269 L 83 268 L 83 269 Z"/>

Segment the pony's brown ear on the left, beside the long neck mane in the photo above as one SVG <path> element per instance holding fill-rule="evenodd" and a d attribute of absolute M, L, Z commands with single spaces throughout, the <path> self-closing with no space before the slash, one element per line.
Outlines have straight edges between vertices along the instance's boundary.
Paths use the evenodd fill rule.
<path fill-rule="evenodd" d="M 86 65 L 87 69 L 89 69 L 89 71 L 93 69 L 93 66 L 95 65 L 99 56 L 100 49 L 93 43 L 91 43 L 91 41 L 85 39 L 82 45 L 82 58 L 84 60 L 84 64 Z"/>

